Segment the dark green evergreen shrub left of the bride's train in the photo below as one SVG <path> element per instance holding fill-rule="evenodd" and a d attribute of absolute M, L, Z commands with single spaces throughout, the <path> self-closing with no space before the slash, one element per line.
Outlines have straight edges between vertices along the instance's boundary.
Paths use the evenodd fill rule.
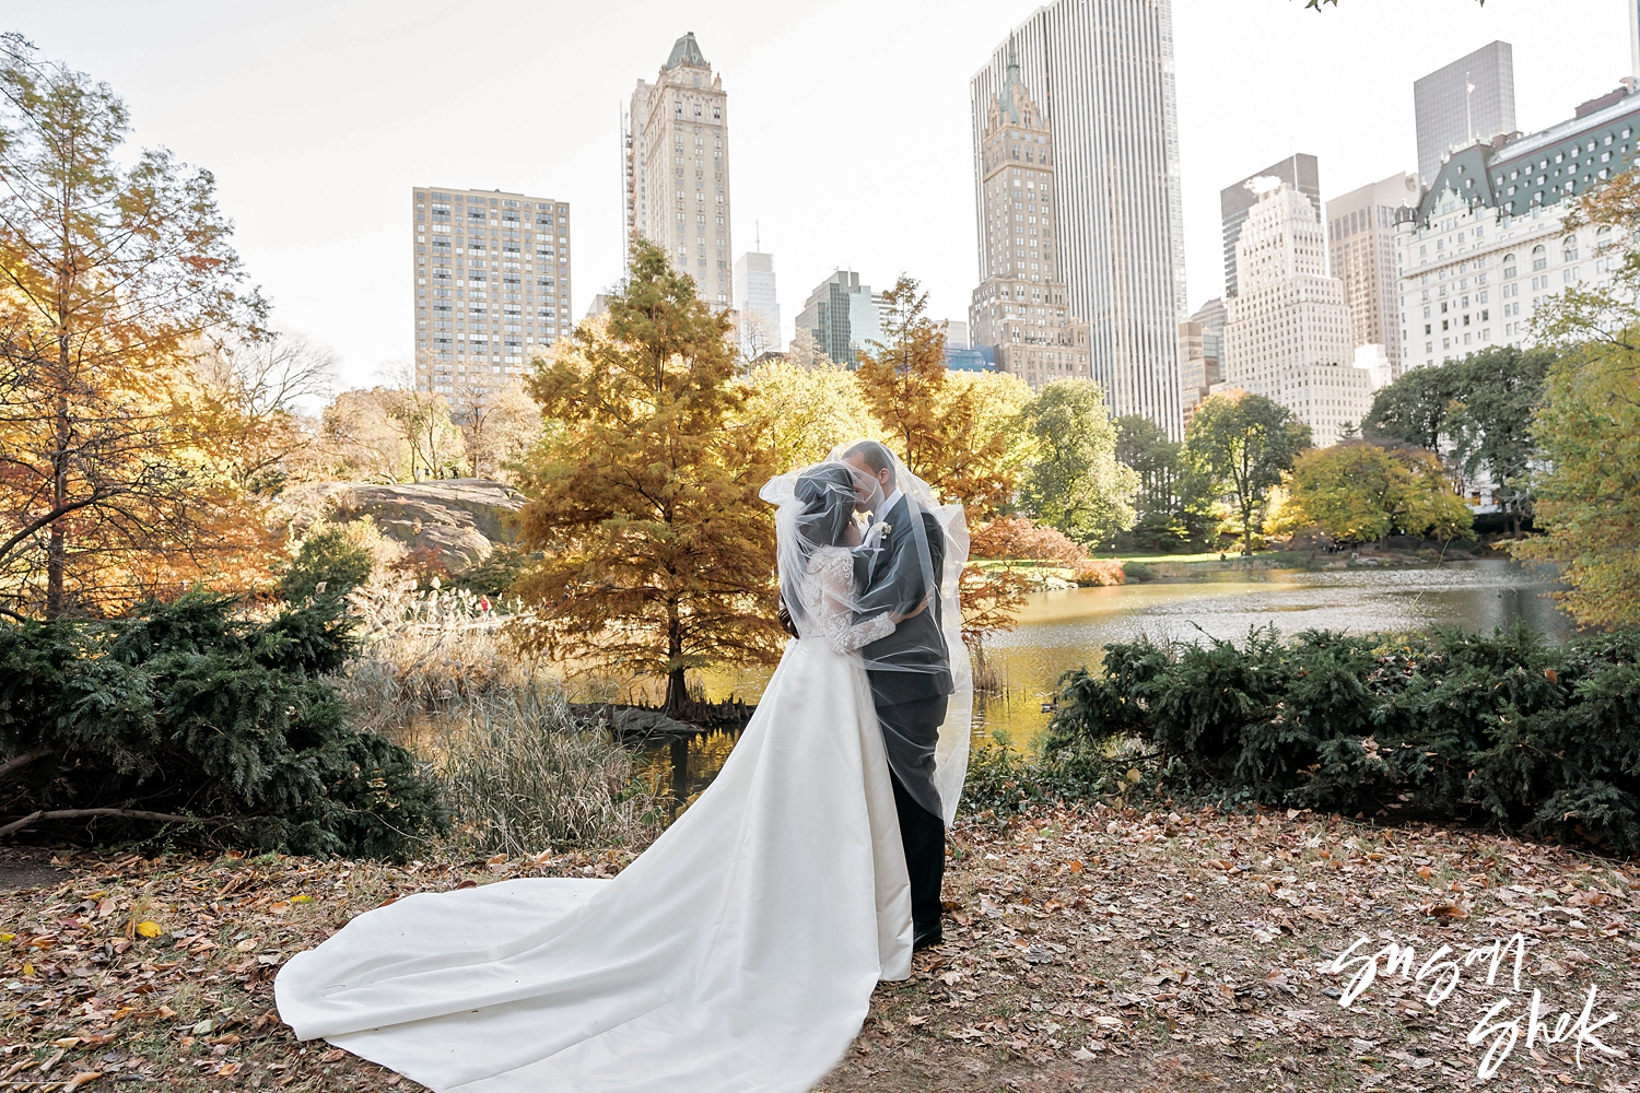
<path fill-rule="evenodd" d="M 408 751 L 348 726 L 320 677 L 353 652 L 336 595 L 253 621 L 192 592 L 112 623 L 0 629 L 0 816 L 198 818 L 213 842 L 402 857 L 448 826 Z M 57 824 L 85 829 L 90 818 Z M 103 839 L 151 819 L 97 816 Z M 59 826 L 61 829 L 61 826 Z"/>

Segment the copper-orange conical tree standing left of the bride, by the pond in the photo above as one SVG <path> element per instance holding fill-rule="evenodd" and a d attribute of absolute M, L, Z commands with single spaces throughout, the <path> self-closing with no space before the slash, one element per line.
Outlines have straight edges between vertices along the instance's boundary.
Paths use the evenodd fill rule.
<path fill-rule="evenodd" d="M 528 460 L 522 542 L 544 552 L 520 585 L 528 647 L 666 680 L 768 664 L 774 519 L 758 492 L 774 457 L 748 423 L 730 321 L 648 241 L 604 323 L 559 339 L 530 393 L 563 433 Z"/>

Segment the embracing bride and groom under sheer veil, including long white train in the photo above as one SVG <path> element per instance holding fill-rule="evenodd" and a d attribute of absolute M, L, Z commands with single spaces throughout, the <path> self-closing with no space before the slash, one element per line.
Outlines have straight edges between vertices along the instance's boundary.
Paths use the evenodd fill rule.
<path fill-rule="evenodd" d="M 444 1093 L 807 1090 L 940 941 L 968 767 L 961 505 L 882 444 L 763 490 L 787 644 L 705 793 L 615 880 L 423 893 L 280 970 L 280 1016 Z"/>

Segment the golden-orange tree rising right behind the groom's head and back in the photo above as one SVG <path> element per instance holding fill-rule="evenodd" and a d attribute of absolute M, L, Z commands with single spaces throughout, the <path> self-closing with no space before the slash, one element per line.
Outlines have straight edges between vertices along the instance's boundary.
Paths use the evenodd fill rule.
<path fill-rule="evenodd" d="M 1014 500 L 1030 442 L 1018 411 L 1030 388 L 1012 375 L 954 375 L 945 365 L 945 331 L 928 318 L 928 295 L 910 277 L 882 293 L 884 341 L 859 354 L 854 379 L 882 429 L 882 441 L 941 500 L 981 526 Z M 969 564 L 961 577 L 963 634 L 979 641 L 1010 629 L 1025 603 L 1027 578 L 1010 567 Z"/>

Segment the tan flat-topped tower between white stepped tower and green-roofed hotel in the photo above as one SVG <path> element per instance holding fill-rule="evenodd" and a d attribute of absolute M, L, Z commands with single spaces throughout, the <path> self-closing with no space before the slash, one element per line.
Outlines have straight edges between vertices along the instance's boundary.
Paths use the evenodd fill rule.
<path fill-rule="evenodd" d="M 1419 177 L 1394 174 L 1327 202 L 1327 256 L 1343 282 L 1350 342 L 1381 346 L 1389 379 L 1401 375 L 1401 306 L 1396 303 L 1396 221 L 1422 197 Z M 1376 361 L 1376 354 L 1368 354 Z M 1363 357 L 1363 367 L 1368 367 Z"/>

